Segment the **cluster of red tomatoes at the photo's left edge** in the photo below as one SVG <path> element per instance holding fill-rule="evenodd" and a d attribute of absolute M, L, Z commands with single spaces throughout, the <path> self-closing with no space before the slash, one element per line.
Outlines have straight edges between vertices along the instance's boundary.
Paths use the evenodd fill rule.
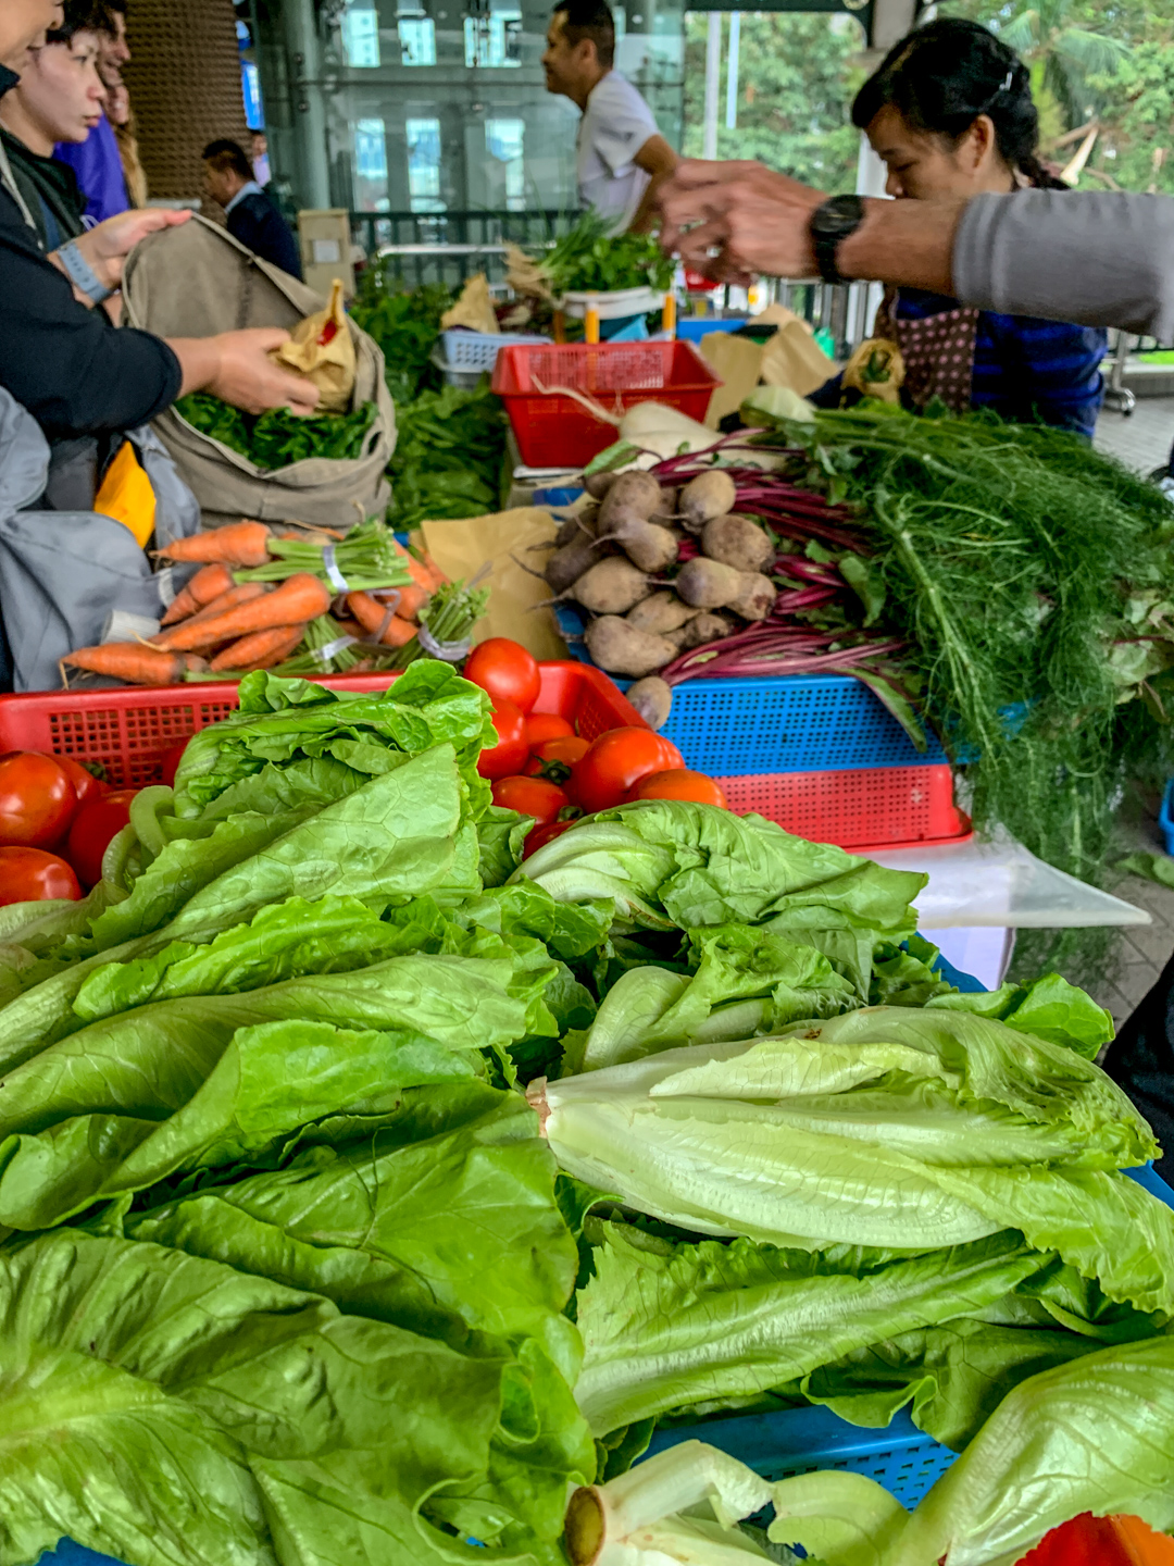
<path fill-rule="evenodd" d="M 69 756 L 0 756 L 0 907 L 77 902 L 102 880 L 102 858 L 130 821 L 136 789 L 110 789 Z"/>

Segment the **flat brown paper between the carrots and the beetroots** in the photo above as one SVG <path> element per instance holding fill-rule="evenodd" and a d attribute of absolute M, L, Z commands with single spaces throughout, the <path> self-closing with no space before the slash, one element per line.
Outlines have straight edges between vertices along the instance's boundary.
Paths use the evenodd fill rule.
<path fill-rule="evenodd" d="M 554 611 L 548 606 L 535 608 L 549 598 L 551 590 L 542 578 L 531 576 L 524 568 L 543 568 L 549 551 L 529 554 L 528 550 L 532 543 L 549 542 L 557 531 L 557 521 L 540 506 L 521 506 L 468 521 L 421 523 L 424 548 L 451 581 L 459 576 L 468 581 L 485 561 L 493 565 L 488 611 L 473 633 L 474 642 L 484 642 L 490 636 L 510 636 L 535 658 L 567 656 Z"/>

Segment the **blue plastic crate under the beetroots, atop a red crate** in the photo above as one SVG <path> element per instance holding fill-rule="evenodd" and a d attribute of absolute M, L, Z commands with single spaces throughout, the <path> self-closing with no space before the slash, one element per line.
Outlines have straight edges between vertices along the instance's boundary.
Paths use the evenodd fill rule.
<path fill-rule="evenodd" d="M 582 637 L 584 619 L 556 604 L 564 636 Z M 571 656 L 590 662 L 582 640 Z M 631 681 L 615 681 L 626 691 Z M 686 680 L 673 686 L 662 730 L 686 766 L 711 777 L 754 772 L 850 772 L 861 767 L 941 766 L 950 758 L 928 734 L 917 750 L 897 719 L 852 675 L 780 675 Z"/>

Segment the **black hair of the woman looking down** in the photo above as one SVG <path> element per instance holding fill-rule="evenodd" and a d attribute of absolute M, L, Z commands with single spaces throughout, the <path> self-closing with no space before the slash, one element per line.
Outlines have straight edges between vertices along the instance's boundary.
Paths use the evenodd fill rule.
<path fill-rule="evenodd" d="M 1008 168 L 1066 189 L 1039 161 L 1039 113 L 1022 60 L 977 22 L 942 17 L 894 44 L 852 105 L 861 130 L 892 105 L 913 128 L 956 143 L 986 114 Z"/>

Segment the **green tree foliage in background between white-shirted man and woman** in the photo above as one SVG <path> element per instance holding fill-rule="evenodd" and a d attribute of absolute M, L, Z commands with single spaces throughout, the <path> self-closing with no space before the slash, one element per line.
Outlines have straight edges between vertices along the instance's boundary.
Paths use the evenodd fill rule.
<path fill-rule="evenodd" d="M 852 99 L 862 80 L 853 63 L 864 42 L 850 16 L 744 11 L 737 125 L 726 130 L 729 23 L 722 33 L 718 158 L 758 158 L 826 191 L 856 183 L 859 132 Z M 701 157 L 704 136 L 706 16 L 686 16 L 684 152 Z"/>

